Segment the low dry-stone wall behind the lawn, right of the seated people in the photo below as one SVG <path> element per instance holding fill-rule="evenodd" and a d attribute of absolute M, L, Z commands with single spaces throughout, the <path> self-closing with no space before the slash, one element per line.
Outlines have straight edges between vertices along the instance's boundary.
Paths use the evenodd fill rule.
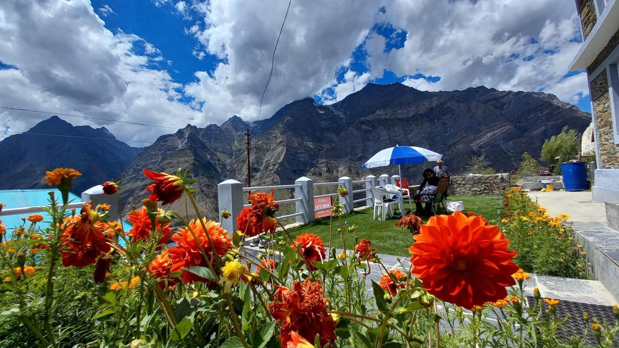
<path fill-rule="evenodd" d="M 509 174 L 452 176 L 448 193 L 454 196 L 503 194 L 509 186 Z"/>

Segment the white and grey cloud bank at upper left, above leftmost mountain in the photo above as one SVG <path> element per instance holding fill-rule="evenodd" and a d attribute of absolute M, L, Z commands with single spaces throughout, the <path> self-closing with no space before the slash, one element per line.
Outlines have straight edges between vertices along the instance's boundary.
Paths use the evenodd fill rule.
<path fill-rule="evenodd" d="M 0 61 L 17 67 L 0 70 L 2 106 L 179 128 L 189 120 L 204 123 L 200 113 L 178 101 L 183 85 L 168 72 L 148 67 L 159 60 L 160 51 L 136 35 L 111 33 L 89 1 L 10 1 L 0 7 L 0 19 Z M 135 53 L 136 46 L 146 54 Z M 26 131 L 49 116 L 2 110 L 0 124 Z M 106 126 L 119 139 L 152 141 L 170 133 L 64 118 L 72 124 Z"/>

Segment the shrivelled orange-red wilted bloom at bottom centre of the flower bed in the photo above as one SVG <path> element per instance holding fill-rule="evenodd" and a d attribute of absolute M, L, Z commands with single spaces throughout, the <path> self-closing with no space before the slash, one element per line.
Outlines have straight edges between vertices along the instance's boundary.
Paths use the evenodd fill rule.
<path fill-rule="evenodd" d="M 292 332 L 296 331 L 306 340 L 314 341 L 320 335 L 321 346 L 335 340 L 335 321 L 327 313 L 329 300 L 324 297 L 320 281 L 293 281 L 292 289 L 277 287 L 269 310 L 275 320 L 283 323 L 279 338 L 282 347 L 288 347 L 293 341 Z"/>

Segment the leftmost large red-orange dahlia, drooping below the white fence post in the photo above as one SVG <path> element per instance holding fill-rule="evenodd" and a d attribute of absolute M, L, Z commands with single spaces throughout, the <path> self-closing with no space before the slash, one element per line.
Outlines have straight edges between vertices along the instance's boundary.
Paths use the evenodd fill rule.
<path fill-rule="evenodd" d="M 105 234 L 110 228 L 98 219 L 92 201 L 82 206 L 80 215 L 67 218 L 67 227 L 60 236 L 64 266 L 84 267 L 110 251 L 111 246 L 105 241 Z"/>

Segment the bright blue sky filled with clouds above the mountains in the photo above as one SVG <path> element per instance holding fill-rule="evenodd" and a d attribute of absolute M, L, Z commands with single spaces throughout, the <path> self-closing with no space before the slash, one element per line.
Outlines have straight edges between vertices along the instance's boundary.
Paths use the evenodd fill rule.
<path fill-rule="evenodd" d="M 293 1 L 260 118 L 300 98 L 334 103 L 370 82 L 543 91 L 591 111 L 584 72 L 568 72 L 580 29 L 575 7 L 562 0 L 356 5 Z M 179 128 L 233 115 L 254 120 L 286 7 L 279 0 L 10 3 L 0 9 L 11 34 L 0 38 L 0 83 L 9 86 L 0 98 Z M 16 131 L 38 120 L 0 118 Z M 96 125 L 124 139 L 166 132 Z"/>

